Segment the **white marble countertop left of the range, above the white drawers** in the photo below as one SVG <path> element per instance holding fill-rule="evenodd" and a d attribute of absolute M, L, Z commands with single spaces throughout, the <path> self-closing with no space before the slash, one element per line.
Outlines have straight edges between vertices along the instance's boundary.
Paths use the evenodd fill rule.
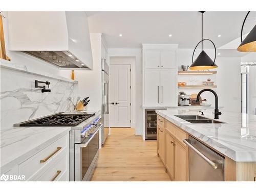
<path fill-rule="evenodd" d="M 71 127 L 15 127 L 1 131 L 1 173 L 35 155 L 55 140 L 68 134 Z"/>

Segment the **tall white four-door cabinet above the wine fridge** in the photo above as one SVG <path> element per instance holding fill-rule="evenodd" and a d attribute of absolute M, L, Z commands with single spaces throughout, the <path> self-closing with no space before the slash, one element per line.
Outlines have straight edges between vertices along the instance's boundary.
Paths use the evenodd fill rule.
<path fill-rule="evenodd" d="M 177 105 L 178 45 L 143 44 L 143 106 Z"/>

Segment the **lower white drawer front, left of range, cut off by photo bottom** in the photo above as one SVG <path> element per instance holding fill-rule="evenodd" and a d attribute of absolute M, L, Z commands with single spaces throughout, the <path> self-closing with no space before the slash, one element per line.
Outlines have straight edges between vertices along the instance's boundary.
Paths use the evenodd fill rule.
<path fill-rule="evenodd" d="M 69 155 L 67 153 L 58 157 L 44 174 L 42 174 L 37 181 L 69 181 L 68 175 L 68 161 Z"/>

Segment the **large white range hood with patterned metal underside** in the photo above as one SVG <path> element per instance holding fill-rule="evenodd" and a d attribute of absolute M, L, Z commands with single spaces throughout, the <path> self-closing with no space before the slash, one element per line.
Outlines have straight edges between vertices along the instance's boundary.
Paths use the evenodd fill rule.
<path fill-rule="evenodd" d="M 83 11 L 8 12 L 9 50 L 23 51 L 61 69 L 93 69 Z"/>

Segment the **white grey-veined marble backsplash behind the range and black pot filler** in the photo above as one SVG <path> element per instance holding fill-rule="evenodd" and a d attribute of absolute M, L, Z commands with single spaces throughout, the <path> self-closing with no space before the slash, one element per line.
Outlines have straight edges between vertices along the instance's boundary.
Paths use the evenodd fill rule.
<path fill-rule="evenodd" d="M 35 80 L 50 81 L 50 93 L 35 88 Z M 44 86 L 44 84 L 42 84 Z M 1 130 L 14 123 L 73 110 L 74 82 L 1 68 Z"/>

